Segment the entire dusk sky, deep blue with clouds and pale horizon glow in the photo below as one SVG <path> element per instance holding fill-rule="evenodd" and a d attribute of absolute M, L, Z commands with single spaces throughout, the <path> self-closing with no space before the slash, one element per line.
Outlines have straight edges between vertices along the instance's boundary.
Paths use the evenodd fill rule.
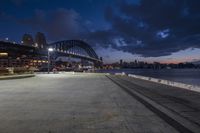
<path fill-rule="evenodd" d="M 105 63 L 200 60 L 199 0 L 0 0 L 0 40 L 81 39 Z"/>

